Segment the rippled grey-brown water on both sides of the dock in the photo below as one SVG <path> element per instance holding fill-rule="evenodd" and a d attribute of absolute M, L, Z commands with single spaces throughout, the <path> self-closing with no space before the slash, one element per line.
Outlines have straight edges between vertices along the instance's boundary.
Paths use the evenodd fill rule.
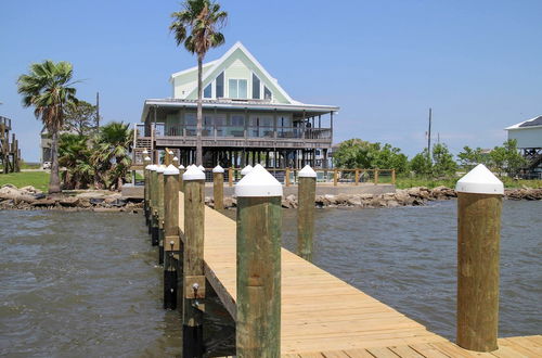
<path fill-rule="evenodd" d="M 314 263 L 453 338 L 455 205 L 320 209 Z M 295 215 L 284 210 L 289 250 Z M 501 336 L 541 333 L 541 202 L 504 203 Z M 0 355 L 178 355 L 181 320 L 162 309 L 155 263 L 140 215 L 0 212 Z M 210 349 L 224 353 L 231 322 L 207 305 Z"/>

